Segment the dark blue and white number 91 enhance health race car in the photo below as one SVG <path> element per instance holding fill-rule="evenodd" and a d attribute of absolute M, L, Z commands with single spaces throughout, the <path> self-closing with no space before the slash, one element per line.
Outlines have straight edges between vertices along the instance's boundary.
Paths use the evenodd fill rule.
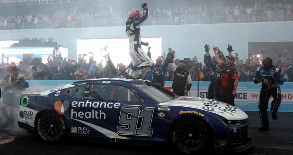
<path fill-rule="evenodd" d="M 48 142 L 68 137 L 171 142 L 184 153 L 239 152 L 253 145 L 248 115 L 239 108 L 179 97 L 135 78 L 78 81 L 27 93 L 20 100 L 18 123 Z"/>

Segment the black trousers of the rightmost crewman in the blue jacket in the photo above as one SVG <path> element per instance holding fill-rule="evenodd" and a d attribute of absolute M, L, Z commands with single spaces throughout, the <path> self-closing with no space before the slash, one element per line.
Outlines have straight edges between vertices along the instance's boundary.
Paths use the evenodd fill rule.
<path fill-rule="evenodd" d="M 262 123 L 262 126 L 269 127 L 269 119 L 268 119 L 268 103 L 269 98 L 273 96 L 274 100 L 271 103 L 270 110 L 272 114 L 277 114 L 277 111 L 280 107 L 282 100 L 282 91 L 280 87 L 275 87 L 270 90 L 266 90 L 266 86 L 262 87 L 259 94 L 259 117 Z"/>

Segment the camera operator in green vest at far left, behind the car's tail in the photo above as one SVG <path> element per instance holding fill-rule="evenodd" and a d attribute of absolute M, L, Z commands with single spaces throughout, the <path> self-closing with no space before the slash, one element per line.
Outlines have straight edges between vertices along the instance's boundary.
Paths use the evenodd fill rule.
<path fill-rule="evenodd" d="M 11 67 L 11 74 L 6 76 L 0 83 L 4 86 L 4 91 L 2 92 L 3 102 L 1 105 L 1 110 L 6 118 L 3 127 L 14 126 L 14 108 L 19 107 L 21 92 L 26 88 L 19 89 L 17 82 L 20 78 L 23 79 L 23 74 L 19 74 L 19 69 L 17 66 Z"/>

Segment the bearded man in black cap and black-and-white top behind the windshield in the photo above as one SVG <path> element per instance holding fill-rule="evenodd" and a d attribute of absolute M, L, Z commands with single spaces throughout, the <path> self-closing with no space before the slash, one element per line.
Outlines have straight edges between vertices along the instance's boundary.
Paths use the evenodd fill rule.
<path fill-rule="evenodd" d="M 186 62 L 180 61 L 179 66 L 173 73 L 173 93 L 179 96 L 184 96 L 191 88 L 191 77 L 189 71 L 186 69 Z"/>

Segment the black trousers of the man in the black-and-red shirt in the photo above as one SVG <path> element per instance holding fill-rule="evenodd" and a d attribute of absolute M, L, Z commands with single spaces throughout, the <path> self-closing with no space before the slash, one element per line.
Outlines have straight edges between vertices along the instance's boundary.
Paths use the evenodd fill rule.
<path fill-rule="evenodd" d="M 234 99 L 235 97 L 233 96 L 233 88 L 222 87 L 220 89 L 218 101 L 235 106 Z"/>

